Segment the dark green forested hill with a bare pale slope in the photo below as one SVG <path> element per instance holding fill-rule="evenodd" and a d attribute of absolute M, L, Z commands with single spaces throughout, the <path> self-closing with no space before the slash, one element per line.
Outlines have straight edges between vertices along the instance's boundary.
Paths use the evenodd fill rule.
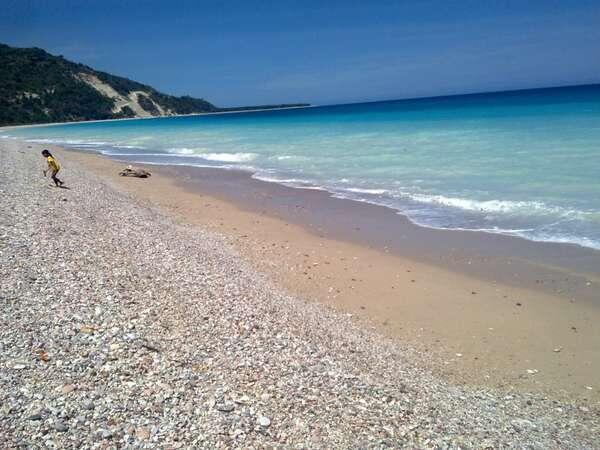
<path fill-rule="evenodd" d="M 0 44 L 0 125 L 169 116 L 293 105 L 219 108 L 96 71 L 39 48 Z"/>

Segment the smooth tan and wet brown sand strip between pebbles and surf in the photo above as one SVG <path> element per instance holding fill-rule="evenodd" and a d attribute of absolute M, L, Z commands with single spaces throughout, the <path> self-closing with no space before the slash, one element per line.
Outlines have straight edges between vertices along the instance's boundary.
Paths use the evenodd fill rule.
<path fill-rule="evenodd" d="M 389 208 L 235 171 L 147 166 L 149 180 L 124 179 L 123 163 L 63 155 L 182 223 L 228 237 L 288 292 L 409 342 L 453 382 L 600 399 L 594 250 L 427 229 Z M 403 239 L 390 239 L 398 226 Z"/>

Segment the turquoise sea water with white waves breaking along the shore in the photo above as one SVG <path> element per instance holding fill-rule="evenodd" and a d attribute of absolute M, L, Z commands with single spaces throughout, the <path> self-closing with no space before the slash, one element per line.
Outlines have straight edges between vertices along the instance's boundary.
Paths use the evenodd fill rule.
<path fill-rule="evenodd" d="M 0 131 L 600 249 L 600 85 Z M 68 178 L 68 174 L 65 174 Z"/>

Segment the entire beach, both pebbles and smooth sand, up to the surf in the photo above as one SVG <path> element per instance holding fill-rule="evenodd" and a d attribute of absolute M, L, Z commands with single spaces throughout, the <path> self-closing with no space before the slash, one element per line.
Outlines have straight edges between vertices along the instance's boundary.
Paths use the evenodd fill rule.
<path fill-rule="evenodd" d="M 597 447 L 597 252 L 0 146 L 9 447 Z"/>

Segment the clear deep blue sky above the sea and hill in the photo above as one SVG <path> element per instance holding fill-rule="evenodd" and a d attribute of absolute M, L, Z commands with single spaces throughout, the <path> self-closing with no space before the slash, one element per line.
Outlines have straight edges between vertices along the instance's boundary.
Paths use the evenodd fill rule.
<path fill-rule="evenodd" d="M 0 0 L 0 42 L 220 106 L 600 82 L 600 0 Z"/>

